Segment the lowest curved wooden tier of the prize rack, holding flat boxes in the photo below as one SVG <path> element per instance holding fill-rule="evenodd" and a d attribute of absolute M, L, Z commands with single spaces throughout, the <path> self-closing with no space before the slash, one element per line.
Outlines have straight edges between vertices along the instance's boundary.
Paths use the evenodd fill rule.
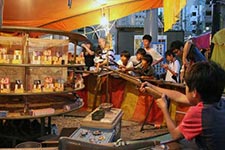
<path fill-rule="evenodd" d="M 22 98 L 22 99 L 21 99 Z M 52 95 L 29 95 L 26 100 L 23 96 L 4 97 L 2 96 L 0 110 L 7 111 L 6 116 L 1 116 L 0 120 L 20 120 L 20 119 L 35 119 L 51 116 L 62 115 L 81 108 L 83 101 L 74 95 L 74 93 L 55 93 Z M 25 104 L 28 104 L 27 113 L 24 112 Z M 74 105 L 70 109 L 65 109 L 66 105 Z M 32 115 L 31 110 L 44 110 L 44 113 Z M 54 112 L 49 112 L 46 109 L 54 109 Z"/>

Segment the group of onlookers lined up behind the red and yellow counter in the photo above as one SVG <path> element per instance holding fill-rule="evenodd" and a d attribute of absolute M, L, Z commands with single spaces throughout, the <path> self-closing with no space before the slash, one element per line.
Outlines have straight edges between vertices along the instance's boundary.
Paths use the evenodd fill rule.
<path fill-rule="evenodd" d="M 152 79 L 156 77 L 154 66 L 161 63 L 164 57 L 151 48 L 152 37 L 150 35 L 144 35 L 142 42 L 143 47 L 136 51 L 135 56 L 131 56 L 129 51 L 124 50 L 120 53 L 118 61 L 115 61 L 114 51 L 104 38 L 98 39 L 98 49 L 95 52 L 90 42 L 82 44 L 81 55 L 85 57 L 88 69 L 95 72 L 98 72 L 104 65 L 115 65 L 124 73 L 141 79 Z M 161 67 L 166 71 L 165 81 L 176 83 L 184 82 L 184 72 L 193 63 L 206 61 L 206 58 L 191 41 L 187 41 L 185 44 L 181 41 L 173 41 L 164 56 L 166 63 Z"/>

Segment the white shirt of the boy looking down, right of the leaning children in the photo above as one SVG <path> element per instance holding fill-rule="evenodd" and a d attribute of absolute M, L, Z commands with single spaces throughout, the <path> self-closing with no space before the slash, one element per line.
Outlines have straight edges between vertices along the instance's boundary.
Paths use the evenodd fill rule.
<path fill-rule="evenodd" d="M 179 63 L 179 61 L 175 60 L 174 62 L 169 62 L 168 67 L 177 74 L 177 82 L 179 82 L 179 73 L 180 73 L 180 63 Z M 172 78 L 172 76 L 173 76 L 173 74 L 169 70 L 167 70 L 166 71 L 166 79 L 165 79 L 165 81 L 176 82 Z"/>

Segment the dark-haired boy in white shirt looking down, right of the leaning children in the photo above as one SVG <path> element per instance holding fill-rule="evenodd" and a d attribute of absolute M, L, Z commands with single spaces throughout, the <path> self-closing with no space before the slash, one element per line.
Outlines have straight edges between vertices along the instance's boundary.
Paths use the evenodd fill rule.
<path fill-rule="evenodd" d="M 180 63 L 176 59 L 175 54 L 168 50 L 166 52 L 166 60 L 169 64 L 163 64 L 162 68 L 166 70 L 165 81 L 179 82 Z"/>

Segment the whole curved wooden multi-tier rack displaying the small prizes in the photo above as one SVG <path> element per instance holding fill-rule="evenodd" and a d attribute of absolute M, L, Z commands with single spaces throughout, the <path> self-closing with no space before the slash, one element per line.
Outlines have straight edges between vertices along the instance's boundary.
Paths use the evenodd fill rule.
<path fill-rule="evenodd" d="M 59 68 L 64 70 L 67 68 L 68 70 L 72 70 L 75 72 L 76 67 L 82 67 L 84 65 L 81 64 L 30 64 L 29 54 L 28 54 L 28 46 L 29 43 L 29 35 L 34 33 L 35 35 L 43 35 L 43 34 L 51 34 L 51 35 L 61 35 L 68 37 L 68 41 L 74 44 L 74 54 L 76 54 L 76 46 L 78 42 L 84 42 L 87 41 L 87 38 L 81 34 L 73 33 L 73 32 L 66 32 L 66 31 L 59 31 L 59 30 L 51 30 L 51 29 L 44 29 L 44 28 L 31 28 L 31 27 L 16 27 L 16 26 L 2 26 L 0 28 L 0 32 L 6 32 L 7 34 L 10 33 L 18 33 L 23 35 L 22 41 L 19 44 L 19 49 L 22 51 L 22 62 L 23 64 L 7 64 L 2 63 L 0 64 L 1 69 L 6 68 L 7 71 L 11 71 L 10 68 L 24 68 L 24 69 L 18 69 L 23 70 L 23 73 L 21 73 L 19 76 L 23 79 L 24 84 L 24 92 L 23 93 L 15 93 L 14 91 L 10 91 L 9 93 L 0 93 L 0 110 L 3 110 L 1 112 L 4 113 L 7 112 L 6 116 L 0 116 L 0 124 L 3 125 L 5 128 L 9 128 L 10 131 L 18 131 L 16 133 L 12 132 L 12 134 L 9 134 L 8 132 L 0 131 L 0 138 L 6 138 L 13 140 L 13 143 L 15 143 L 16 140 L 20 139 L 21 141 L 27 141 L 34 139 L 33 135 L 27 134 L 27 137 L 25 138 L 22 132 L 19 132 L 22 130 L 20 126 L 18 126 L 18 122 L 14 120 L 20 120 L 20 124 L 24 122 L 24 120 L 32 121 L 33 119 L 40 119 L 41 122 L 41 129 L 37 132 L 37 135 L 35 134 L 35 138 L 44 136 L 46 134 L 51 133 L 51 117 L 52 116 L 58 116 L 63 115 L 66 113 L 69 113 L 74 110 L 80 109 L 84 103 L 82 101 L 77 104 L 77 96 L 75 95 L 75 92 L 78 90 L 83 89 L 85 86 L 82 86 L 80 88 L 72 88 L 70 86 L 65 86 L 64 91 L 57 91 L 57 92 L 31 92 L 31 88 L 28 88 L 28 83 L 31 84 L 31 81 L 28 80 L 29 73 L 28 71 L 30 69 L 38 69 L 38 68 Z M 12 40 L 9 40 L 10 42 Z M 7 41 L 8 42 L 8 41 Z M 6 42 L 6 43 L 7 43 Z M 41 44 L 41 43 L 40 43 Z M 4 44 L 3 44 L 4 45 Z M 16 50 L 16 49 L 14 49 Z M 11 54 L 11 53 L 10 53 Z M 76 56 L 74 57 L 74 62 L 76 62 Z M 54 68 L 53 68 L 54 69 Z M 66 70 L 66 69 L 65 69 Z M 54 72 L 53 72 L 54 73 Z M 6 73 L 7 75 L 7 73 Z M 35 74 L 36 75 L 36 74 Z M 43 73 L 45 75 L 45 73 Z M 52 74 L 54 75 L 54 74 Z M 14 75 L 14 77 L 17 77 L 17 74 Z M 64 78 L 66 78 L 64 74 Z M 15 80 L 12 78 L 12 80 Z M 68 84 L 68 83 L 65 83 Z M 68 85 L 72 84 L 70 82 Z M 31 84 L 32 85 L 32 84 Z M 30 85 L 29 85 L 30 86 Z M 33 116 L 30 114 L 27 114 L 27 111 L 25 112 L 25 105 L 26 107 L 29 107 L 28 110 L 31 109 L 45 109 L 45 108 L 54 108 L 54 113 L 50 114 L 41 114 L 37 116 Z M 73 106 L 71 106 L 71 104 Z M 75 104 L 75 106 L 74 106 Z M 70 108 L 65 110 L 64 106 L 69 105 Z M 29 111 L 28 111 L 29 112 Z M 47 123 L 47 130 L 46 130 L 46 123 L 45 118 L 48 118 Z M 8 124 L 4 124 L 4 122 L 10 121 L 10 124 L 13 124 L 12 126 L 8 126 Z M 46 132 L 47 131 L 47 132 Z"/>

